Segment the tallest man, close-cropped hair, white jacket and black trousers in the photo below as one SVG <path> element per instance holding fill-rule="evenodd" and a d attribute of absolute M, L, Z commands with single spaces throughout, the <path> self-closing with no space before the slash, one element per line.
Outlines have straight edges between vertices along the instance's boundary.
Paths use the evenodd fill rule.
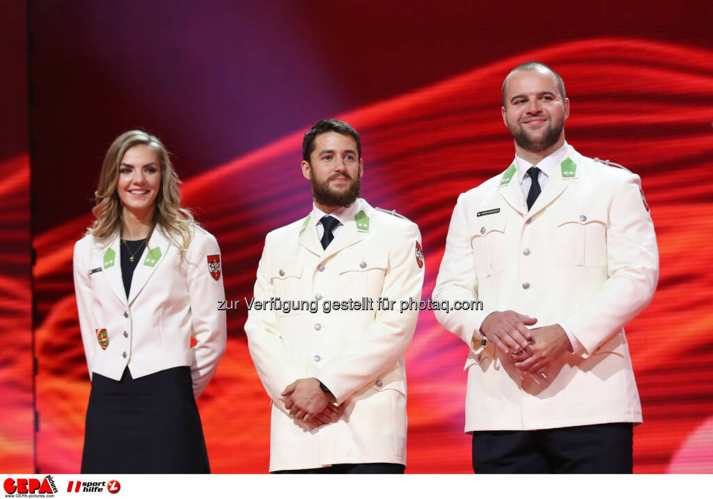
<path fill-rule="evenodd" d="M 641 405 L 623 326 L 651 301 L 658 251 L 640 178 L 565 142 L 562 78 L 538 62 L 503 82 L 515 160 L 458 197 L 436 312 L 469 347 L 476 473 L 631 473 Z"/>

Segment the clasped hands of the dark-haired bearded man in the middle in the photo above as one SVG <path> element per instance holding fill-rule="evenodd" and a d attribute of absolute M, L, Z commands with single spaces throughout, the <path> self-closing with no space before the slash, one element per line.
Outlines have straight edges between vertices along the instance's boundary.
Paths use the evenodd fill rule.
<path fill-rule="evenodd" d="M 298 379 L 287 385 L 280 395 L 289 416 L 312 428 L 339 419 L 339 406 L 329 401 L 329 395 L 322 391 L 316 378 Z"/>

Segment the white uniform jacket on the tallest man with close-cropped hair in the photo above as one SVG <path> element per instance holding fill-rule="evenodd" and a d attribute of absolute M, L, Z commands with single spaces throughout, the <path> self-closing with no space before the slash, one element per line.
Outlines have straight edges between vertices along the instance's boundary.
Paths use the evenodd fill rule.
<path fill-rule="evenodd" d="M 623 326 L 651 301 L 656 235 L 640 178 L 571 146 L 528 212 L 515 163 L 458 197 L 436 279 L 436 300 L 483 302 L 436 312 L 470 346 L 466 431 L 640 423 L 641 404 Z M 546 379 L 521 374 L 478 326 L 493 311 L 562 322 L 583 348 Z"/>

